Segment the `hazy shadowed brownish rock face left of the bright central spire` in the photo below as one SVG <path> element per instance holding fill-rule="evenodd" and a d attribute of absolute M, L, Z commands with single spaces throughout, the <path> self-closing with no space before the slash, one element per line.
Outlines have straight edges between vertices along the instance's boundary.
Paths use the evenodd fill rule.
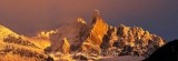
<path fill-rule="evenodd" d="M 63 26 L 56 30 L 55 33 L 51 33 L 51 52 L 57 52 L 56 50 L 60 50 L 60 44 L 62 43 L 62 39 L 67 38 L 69 44 L 71 45 L 71 50 L 76 51 L 83 40 L 87 39 L 88 27 L 83 19 L 79 18 L 77 21 L 71 22 L 71 24 Z"/>

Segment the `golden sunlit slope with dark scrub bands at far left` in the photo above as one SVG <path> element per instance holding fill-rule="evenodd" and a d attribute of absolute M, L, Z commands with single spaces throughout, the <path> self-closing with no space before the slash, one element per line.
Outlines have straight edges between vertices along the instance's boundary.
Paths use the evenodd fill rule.
<path fill-rule="evenodd" d="M 3 26 L 0 26 L 0 61 L 52 60 L 41 48 Z"/>

